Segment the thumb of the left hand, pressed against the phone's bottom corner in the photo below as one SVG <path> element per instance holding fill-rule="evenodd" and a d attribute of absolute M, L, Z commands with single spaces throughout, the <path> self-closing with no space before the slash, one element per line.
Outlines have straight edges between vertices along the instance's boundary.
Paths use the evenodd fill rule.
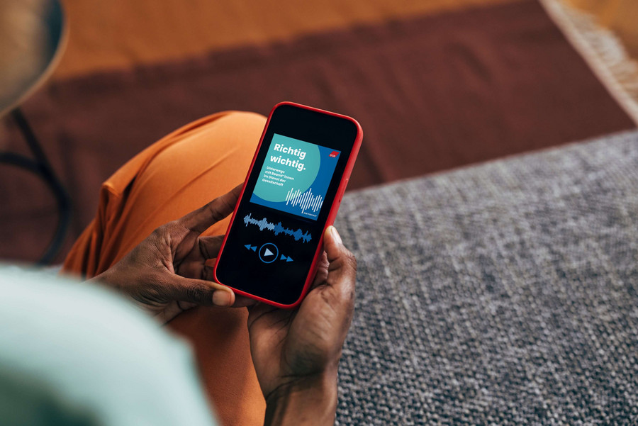
<path fill-rule="evenodd" d="M 176 301 L 197 303 L 203 306 L 233 306 L 235 293 L 226 286 L 204 281 L 202 279 L 189 279 L 184 276 L 172 275 L 172 283 L 165 288 L 167 296 Z"/>

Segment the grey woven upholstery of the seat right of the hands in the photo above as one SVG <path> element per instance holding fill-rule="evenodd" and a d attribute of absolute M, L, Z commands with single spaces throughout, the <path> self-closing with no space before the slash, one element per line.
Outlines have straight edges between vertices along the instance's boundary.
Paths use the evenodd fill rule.
<path fill-rule="evenodd" d="M 638 424 L 638 133 L 344 198 L 338 425 Z"/>

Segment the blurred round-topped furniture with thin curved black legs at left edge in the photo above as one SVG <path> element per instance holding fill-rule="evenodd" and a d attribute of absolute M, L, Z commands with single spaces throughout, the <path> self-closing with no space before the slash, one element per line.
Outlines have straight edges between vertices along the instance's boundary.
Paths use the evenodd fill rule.
<path fill-rule="evenodd" d="M 0 117 L 11 114 L 29 151 L 29 155 L 0 152 L 0 164 L 35 174 L 55 196 L 57 227 L 38 260 L 38 264 L 48 264 L 62 247 L 71 220 L 71 203 L 18 106 L 50 77 L 60 60 L 66 40 L 64 13 L 57 0 L 3 0 L 0 24 Z"/>

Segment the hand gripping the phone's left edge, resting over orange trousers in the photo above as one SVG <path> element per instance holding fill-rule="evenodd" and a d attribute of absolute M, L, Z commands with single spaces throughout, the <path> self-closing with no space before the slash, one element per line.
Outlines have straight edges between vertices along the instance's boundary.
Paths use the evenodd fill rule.
<path fill-rule="evenodd" d="M 240 190 L 237 186 L 183 218 L 160 226 L 94 280 L 130 296 L 164 323 L 197 305 L 252 304 L 247 298 L 235 299 L 230 288 L 213 282 L 213 268 L 205 264 L 217 257 L 223 235 L 201 236 L 233 212 Z"/>

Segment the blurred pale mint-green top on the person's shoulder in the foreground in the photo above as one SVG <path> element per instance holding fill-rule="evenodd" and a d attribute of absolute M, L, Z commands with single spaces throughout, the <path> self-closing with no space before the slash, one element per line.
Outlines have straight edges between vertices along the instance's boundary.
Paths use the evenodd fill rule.
<path fill-rule="evenodd" d="M 215 425 L 191 352 L 106 288 L 0 265 L 0 425 Z"/>

